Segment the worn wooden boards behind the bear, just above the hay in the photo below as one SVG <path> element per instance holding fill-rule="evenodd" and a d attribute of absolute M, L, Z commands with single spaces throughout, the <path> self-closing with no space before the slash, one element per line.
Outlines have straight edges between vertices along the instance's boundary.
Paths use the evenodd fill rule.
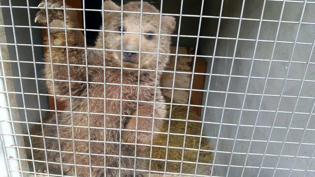
<path fill-rule="evenodd" d="M 176 47 L 171 47 L 171 54 L 176 53 Z M 194 55 L 194 51 L 192 48 L 187 47 L 178 47 L 178 54 L 184 55 Z M 178 56 L 176 62 L 176 71 L 186 71 L 192 72 L 193 66 L 193 57 L 189 56 Z M 170 57 L 170 61 L 166 66 L 165 70 L 174 71 L 175 65 L 175 56 Z M 203 58 L 196 58 L 195 61 L 195 70 L 194 73 L 206 73 L 207 69 L 207 62 Z M 192 74 L 182 74 L 176 73 L 175 74 L 175 82 L 174 88 L 182 88 L 182 89 L 190 89 L 191 86 L 191 76 Z M 161 77 L 161 86 L 172 88 L 173 84 L 173 73 L 163 73 Z M 205 84 L 205 75 L 194 74 L 192 89 L 204 89 Z M 165 96 L 166 102 L 170 102 L 172 96 L 172 89 L 162 89 L 162 93 Z M 190 104 L 191 105 L 202 105 L 202 91 L 192 91 Z M 173 103 L 181 103 L 181 104 L 188 104 L 189 101 L 189 90 L 178 90 L 174 89 L 173 93 Z M 196 110 L 198 116 L 201 115 L 201 107 L 191 107 Z"/>

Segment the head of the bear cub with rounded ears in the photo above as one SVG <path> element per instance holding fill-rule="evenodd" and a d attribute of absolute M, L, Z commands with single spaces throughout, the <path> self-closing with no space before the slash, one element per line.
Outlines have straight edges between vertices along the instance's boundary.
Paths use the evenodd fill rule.
<path fill-rule="evenodd" d="M 158 40 L 159 31 L 159 14 L 142 14 L 142 26 L 140 36 L 140 2 L 129 2 L 123 5 L 124 11 L 136 13 L 123 13 L 123 26 L 121 25 L 120 12 L 105 12 L 104 13 L 104 30 L 126 32 L 121 35 L 121 32 L 105 32 L 104 44 L 105 49 L 119 50 L 107 52 L 109 56 L 107 59 L 115 66 L 120 67 L 123 59 L 123 67 L 138 68 L 139 64 L 139 48 L 141 51 L 140 68 L 141 69 L 156 69 L 157 54 L 159 50 L 158 69 L 163 69 L 168 61 L 167 55 L 161 53 L 169 53 L 170 36 L 160 36 Z M 121 11 L 121 7 L 111 0 L 104 1 L 105 10 Z M 148 2 L 143 2 L 142 12 L 159 13 L 158 9 Z M 172 34 L 176 21 L 174 17 L 162 16 L 161 34 Z M 138 34 L 134 34 L 138 33 Z M 102 35 L 99 35 L 102 37 Z M 140 45 L 141 37 L 141 45 Z M 98 40 L 99 41 L 99 40 Z M 121 53 L 123 49 L 123 53 Z M 142 53 L 145 52 L 145 53 Z M 148 54 L 149 53 L 149 54 Z"/>

